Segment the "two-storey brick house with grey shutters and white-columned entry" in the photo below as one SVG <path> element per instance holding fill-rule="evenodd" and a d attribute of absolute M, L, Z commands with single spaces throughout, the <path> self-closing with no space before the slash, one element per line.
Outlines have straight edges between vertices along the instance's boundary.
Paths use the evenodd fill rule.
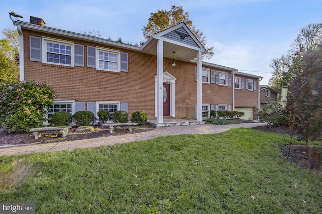
<path fill-rule="evenodd" d="M 183 117 L 202 121 L 211 109 L 254 115 L 259 106 L 262 77 L 202 62 L 206 49 L 184 23 L 136 47 L 50 28 L 40 18 L 30 21 L 13 21 L 22 50 L 20 80 L 45 81 L 53 88 L 57 99 L 49 115 L 143 111 L 163 123 Z"/>

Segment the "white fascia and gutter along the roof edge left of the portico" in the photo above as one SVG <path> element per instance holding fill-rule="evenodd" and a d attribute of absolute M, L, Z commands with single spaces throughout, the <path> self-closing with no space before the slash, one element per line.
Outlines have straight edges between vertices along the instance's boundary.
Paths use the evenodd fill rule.
<path fill-rule="evenodd" d="M 31 23 L 22 22 L 22 21 L 13 21 L 13 24 L 16 26 L 21 26 L 25 29 L 36 30 L 39 32 L 74 37 L 77 39 L 83 39 L 83 40 L 92 41 L 92 42 L 96 42 L 96 43 L 102 43 L 102 44 L 111 45 L 111 46 L 115 46 L 115 47 L 132 49 L 132 50 L 136 50 L 136 51 L 141 50 L 141 47 L 127 45 L 127 44 L 123 44 L 123 43 L 119 43 L 119 42 L 115 42 L 115 41 L 111 41 L 111 40 L 107 40 L 107 39 L 102 39 L 99 37 L 89 36 L 89 35 L 75 33 L 75 32 L 71 32 L 71 31 L 60 30 L 60 29 L 51 28 L 51 27 L 47 27 L 47 26 L 41 26 L 41 25 L 31 24 Z"/>

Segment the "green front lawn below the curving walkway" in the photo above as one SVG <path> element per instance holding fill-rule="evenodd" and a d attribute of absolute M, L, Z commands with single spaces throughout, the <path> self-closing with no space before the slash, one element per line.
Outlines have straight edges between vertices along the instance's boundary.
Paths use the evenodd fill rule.
<path fill-rule="evenodd" d="M 2 156 L 2 178 L 17 165 L 28 173 L 2 179 L 0 202 L 35 202 L 36 213 L 321 213 L 322 173 L 286 160 L 282 144 L 239 128 Z"/>

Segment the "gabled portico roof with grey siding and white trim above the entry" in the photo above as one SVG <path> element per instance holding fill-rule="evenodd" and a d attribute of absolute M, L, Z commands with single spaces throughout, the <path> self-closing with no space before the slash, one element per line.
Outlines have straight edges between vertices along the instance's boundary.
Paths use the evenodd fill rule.
<path fill-rule="evenodd" d="M 164 31 L 153 34 L 142 46 L 142 51 L 147 54 L 156 55 L 157 40 L 164 42 L 164 57 L 189 62 L 197 57 L 197 52 L 200 50 L 206 53 L 207 50 L 190 31 L 185 23 L 179 23 Z"/>

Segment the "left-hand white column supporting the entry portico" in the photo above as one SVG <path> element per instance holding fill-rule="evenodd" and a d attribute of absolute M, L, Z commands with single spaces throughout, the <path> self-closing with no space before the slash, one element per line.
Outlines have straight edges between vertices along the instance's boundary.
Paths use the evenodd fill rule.
<path fill-rule="evenodd" d="M 163 41 L 157 40 L 156 50 L 156 122 L 163 123 Z"/>

